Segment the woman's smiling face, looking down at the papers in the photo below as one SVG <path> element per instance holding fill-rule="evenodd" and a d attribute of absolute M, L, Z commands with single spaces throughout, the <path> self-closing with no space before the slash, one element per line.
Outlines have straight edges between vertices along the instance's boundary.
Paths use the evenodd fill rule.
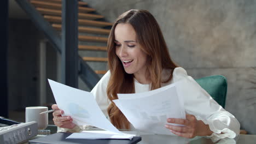
<path fill-rule="evenodd" d="M 136 41 L 136 32 L 129 23 L 118 23 L 115 27 L 115 54 L 123 63 L 126 73 L 145 76 L 147 55 Z"/>

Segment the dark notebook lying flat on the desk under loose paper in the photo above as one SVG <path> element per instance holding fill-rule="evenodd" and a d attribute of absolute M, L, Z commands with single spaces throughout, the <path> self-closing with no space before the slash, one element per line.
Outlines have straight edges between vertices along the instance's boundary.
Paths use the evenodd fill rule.
<path fill-rule="evenodd" d="M 113 139 L 103 139 L 103 140 L 88 140 L 88 139 L 66 139 L 72 133 L 56 133 L 53 135 L 48 135 L 44 137 L 40 137 L 38 139 L 30 140 L 30 143 L 44 143 L 44 144 L 51 144 L 51 143 L 90 143 L 90 144 L 100 144 L 100 143 L 109 143 L 109 144 L 135 144 L 141 141 L 141 137 L 135 136 L 132 140 L 113 140 Z"/>

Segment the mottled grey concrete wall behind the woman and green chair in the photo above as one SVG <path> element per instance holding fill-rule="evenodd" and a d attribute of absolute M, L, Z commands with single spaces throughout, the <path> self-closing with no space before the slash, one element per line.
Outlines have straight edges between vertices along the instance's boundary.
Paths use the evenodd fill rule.
<path fill-rule="evenodd" d="M 228 79 L 226 110 L 256 134 L 256 1 L 86 1 L 113 22 L 129 9 L 147 9 L 159 22 L 170 54 L 195 79 Z"/>

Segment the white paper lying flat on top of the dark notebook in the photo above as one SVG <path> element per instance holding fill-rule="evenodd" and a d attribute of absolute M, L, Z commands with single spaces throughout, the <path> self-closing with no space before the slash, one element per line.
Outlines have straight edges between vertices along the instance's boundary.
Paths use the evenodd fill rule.
<path fill-rule="evenodd" d="M 110 131 L 82 131 L 81 133 L 73 133 L 69 135 L 66 139 L 129 139 L 131 140 L 133 136 L 132 134 L 125 135 L 117 135 Z"/>

